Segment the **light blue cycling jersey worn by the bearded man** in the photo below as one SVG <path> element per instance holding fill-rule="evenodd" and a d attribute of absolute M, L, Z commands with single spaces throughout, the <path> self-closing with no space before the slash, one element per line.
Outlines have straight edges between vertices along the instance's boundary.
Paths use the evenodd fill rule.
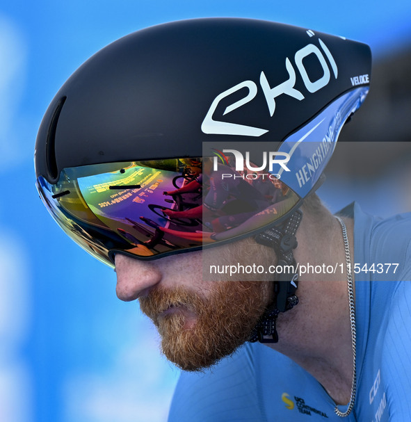
<path fill-rule="evenodd" d="M 344 421 L 411 421 L 411 214 L 380 220 L 356 204 L 341 213 L 355 220 L 357 264 L 357 398 Z M 204 373 L 182 373 L 169 421 L 342 421 L 334 408 L 291 359 L 246 343 Z"/>

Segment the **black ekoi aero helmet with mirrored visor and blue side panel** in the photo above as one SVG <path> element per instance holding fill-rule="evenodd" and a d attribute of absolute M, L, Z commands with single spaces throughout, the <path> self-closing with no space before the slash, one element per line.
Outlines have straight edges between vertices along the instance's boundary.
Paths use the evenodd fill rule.
<path fill-rule="evenodd" d="M 38 190 L 109 265 L 115 252 L 153 259 L 254 234 L 316 188 L 370 74 L 365 44 L 284 24 L 137 31 L 54 97 L 36 143 Z"/>

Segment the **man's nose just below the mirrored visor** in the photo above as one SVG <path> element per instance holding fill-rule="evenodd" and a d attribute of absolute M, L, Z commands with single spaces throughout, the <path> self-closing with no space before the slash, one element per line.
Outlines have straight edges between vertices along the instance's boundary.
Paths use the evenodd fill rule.
<path fill-rule="evenodd" d="M 147 295 L 152 286 L 161 282 L 162 277 L 161 270 L 152 262 L 138 261 L 123 254 L 115 255 L 115 272 L 115 293 L 124 302 Z"/>

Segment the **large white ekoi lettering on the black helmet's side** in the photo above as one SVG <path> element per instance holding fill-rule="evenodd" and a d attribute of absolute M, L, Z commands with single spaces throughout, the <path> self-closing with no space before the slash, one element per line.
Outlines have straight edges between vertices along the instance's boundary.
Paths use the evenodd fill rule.
<path fill-rule="evenodd" d="M 327 61 L 325 60 L 324 54 L 325 56 L 327 56 L 330 62 L 335 79 L 337 79 L 338 76 L 337 63 L 335 63 L 335 60 L 332 57 L 330 50 L 320 38 L 319 45 L 323 52 L 321 52 L 321 49 L 319 47 L 310 43 L 302 49 L 296 51 L 296 54 L 294 54 L 294 63 L 298 69 L 298 72 L 300 73 L 301 79 L 303 79 L 305 88 L 307 88 L 307 91 L 309 93 L 313 93 L 320 90 L 321 88 L 327 86 L 330 82 L 331 72 L 330 68 L 328 67 Z M 318 79 L 310 79 L 307 69 L 304 66 L 303 59 L 309 55 L 314 55 L 318 59 L 319 64 L 323 69 L 323 75 Z M 294 88 L 297 79 L 296 70 L 288 57 L 286 57 L 285 59 L 285 67 L 289 74 L 289 79 L 283 81 L 282 83 L 279 83 L 273 88 L 271 88 L 270 84 L 268 83 L 266 74 L 264 72 L 261 72 L 260 74 L 259 84 L 264 92 L 264 96 L 266 97 L 268 111 L 270 112 L 271 117 L 273 117 L 275 112 L 275 99 L 280 95 L 289 95 L 289 97 L 293 97 L 295 99 L 298 99 L 299 101 L 305 98 L 303 92 L 300 92 L 299 90 Z M 221 92 L 219 95 L 217 95 L 217 97 L 211 103 L 209 111 L 207 112 L 207 115 L 204 117 L 204 120 L 202 122 L 201 130 L 204 133 L 257 137 L 264 135 L 264 133 L 268 132 L 267 129 L 262 129 L 259 127 L 246 126 L 244 124 L 223 122 L 221 120 L 213 119 L 213 114 L 216 111 L 218 104 L 220 104 L 220 102 L 225 99 L 225 97 L 228 97 L 229 95 L 232 95 L 234 92 L 237 92 L 243 88 L 248 89 L 248 94 L 242 99 L 239 99 L 239 101 L 234 102 L 234 104 L 227 106 L 223 115 L 231 113 L 232 111 L 236 110 L 236 108 L 239 108 L 244 104 L 251 102 L 252 99 L 254 99 L 257 95 L 257 91 L 259 89 L 255 81 L 243 81 L 241 83 L 238 83 L 236 86 L 233 86 L 232 88 L 229 88 L 228 90 L 225 90 L 224 92 Z"/>

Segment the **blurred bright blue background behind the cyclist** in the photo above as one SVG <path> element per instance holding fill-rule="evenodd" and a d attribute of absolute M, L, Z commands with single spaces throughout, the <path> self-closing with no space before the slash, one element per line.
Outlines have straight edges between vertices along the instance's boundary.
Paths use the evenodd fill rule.
<path fill-rule="evenodd" d="M 268 19 L 344 35 L 370 44 L 376 60 L 407 49 L 411 39 L 408 0 L 3 3 L 0 421 L 166 420 L 178 371 L 159 354 L 156 332 L 138 305 L 115 298 L 113 271 L 66 238 L 43 208 L 34 188 L 33 146 L 52 97 L 95 51 L 145 26 L 211 16 Z M 406 172 L 408 162 L 403 167 Z M 379 200 L 381 188 L 396 188 L 385 175 L 380 172 L 371 186 L 337 174 L 338 189 L 326 185 L 321 195 L 332 209 L 364 195 L 364 208 L 371 211 L 409 207 L 410 192 L 398 195 L 389 209 Z"/>

